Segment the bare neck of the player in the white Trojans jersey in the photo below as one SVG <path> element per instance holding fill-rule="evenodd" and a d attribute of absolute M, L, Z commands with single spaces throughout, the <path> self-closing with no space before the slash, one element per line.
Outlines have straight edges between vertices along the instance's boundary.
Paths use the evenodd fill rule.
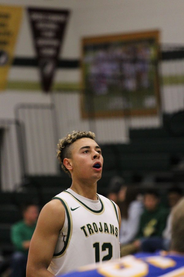
<path fill-rule="evenodd" d="M 83 197 L 91 200 L 97 200 L 97 182 L 87 183 L 76 182 L 73 180 L 70 188 Z"/>

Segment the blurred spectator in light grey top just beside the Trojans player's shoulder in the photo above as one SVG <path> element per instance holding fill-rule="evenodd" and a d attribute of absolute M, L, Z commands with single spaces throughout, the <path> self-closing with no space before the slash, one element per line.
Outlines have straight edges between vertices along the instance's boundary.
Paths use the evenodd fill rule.
<path fill-rule="evenodd" d="M 121 187 L 118 193 L 117 205 L 121 212 L 120 244 L 132 242 L 139 228 L 143 203 L 138 199 L 139 192 L 135 188 Z"/>

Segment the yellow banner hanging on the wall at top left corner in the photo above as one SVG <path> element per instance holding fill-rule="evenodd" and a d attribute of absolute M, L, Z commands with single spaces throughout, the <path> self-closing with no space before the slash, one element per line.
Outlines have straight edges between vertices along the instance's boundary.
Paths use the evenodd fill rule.
<path fill-rule="evenodd" d="M 6 88 L 14 58 L 14 47 L 22 18 L 22 7 L 0 6 L 0 90 Z"/>

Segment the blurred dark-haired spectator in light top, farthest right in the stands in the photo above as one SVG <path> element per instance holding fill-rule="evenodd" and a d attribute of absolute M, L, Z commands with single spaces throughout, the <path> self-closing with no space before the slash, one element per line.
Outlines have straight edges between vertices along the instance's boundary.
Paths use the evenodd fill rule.
<path fill-rule="evenodd" d="M 182 198 L 183 192 L 182 189 L 178 187 L 171 187 L 167 192 L 167 199 L 169 207 L 172 211 L 173 207 L 178 203 Z M 166 228 L 163 231 L 163 249 L 169 250 L 171 244 L 171 211 L 167 218 Z"/>

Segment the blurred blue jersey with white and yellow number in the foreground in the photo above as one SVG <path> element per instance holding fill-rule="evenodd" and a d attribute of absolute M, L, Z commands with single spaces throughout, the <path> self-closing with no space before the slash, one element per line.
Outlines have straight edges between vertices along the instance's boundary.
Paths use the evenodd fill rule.
<path fill-rule="evenodd" d="M 117 261 L 85 266 L 62 277 L 184 277 L 184 255 L 164 252 L 128 255 Z"/>

